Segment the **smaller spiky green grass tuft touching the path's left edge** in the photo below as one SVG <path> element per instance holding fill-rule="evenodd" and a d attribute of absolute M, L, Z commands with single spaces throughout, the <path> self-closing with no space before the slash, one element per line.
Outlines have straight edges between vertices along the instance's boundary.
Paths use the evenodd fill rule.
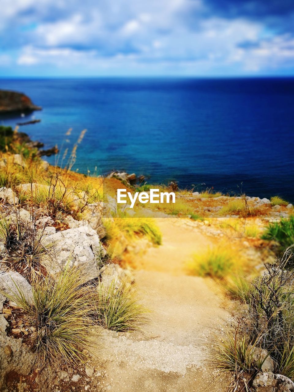
<path fill-rule="evenodd" d="M 117 288 L 114 280 L 109 287 L 100 283 L 93 290 L 95 312 L 92 317 L 103 327 L 117 332 L 140 330 L 146 321 L 147 309 L 138 303 L 134 290 L 126 285 Z"/>

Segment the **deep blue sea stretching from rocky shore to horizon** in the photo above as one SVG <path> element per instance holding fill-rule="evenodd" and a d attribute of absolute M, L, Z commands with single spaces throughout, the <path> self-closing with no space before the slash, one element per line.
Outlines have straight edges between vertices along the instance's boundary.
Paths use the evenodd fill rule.
<path fill-rule="evenodd" d="M 294 78 L 14 79 L 0 80 L 0 89 L 43 107 L 1 123 L 40 118 L 21 131 L 63 145 L 61 155 L 87 129 L 79 172 L 125 170 L 150 183 L 294 201 Z"/>

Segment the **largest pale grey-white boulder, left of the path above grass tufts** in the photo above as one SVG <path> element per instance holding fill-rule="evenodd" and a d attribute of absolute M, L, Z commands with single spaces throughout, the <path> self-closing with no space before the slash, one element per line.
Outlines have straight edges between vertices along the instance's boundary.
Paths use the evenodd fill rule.
<path fill-rule="evenodd" d="M 105 256 L 106 251 L 103 248 L 99 236 L 89 226 L 76 227 L 58 231 L 55 234 L 44 236 L 42 239 L 44 245 L 50 245 L 50 253 L 56 265 L 52 265 L 49 272 L 54 274 L 64 268 L 67 263 L 83 266 L 85 276 L 89 279 L 98 276 L 96 258 Z"/>

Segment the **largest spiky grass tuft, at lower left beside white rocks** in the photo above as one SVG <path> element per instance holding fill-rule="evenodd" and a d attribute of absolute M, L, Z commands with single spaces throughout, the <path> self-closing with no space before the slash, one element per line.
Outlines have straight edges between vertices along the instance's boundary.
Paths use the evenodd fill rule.
<path fill-rule="evenodd" d="M 57 280 L 43 278 L 33 282 L 33 302 L 24 293 L 9 296 L 36 330 L 31 346 L 42 363 L 85 362 L 94 341 L 92 321 L 87 316 L 91 304 L 81 286 L 82 269 L 65 269 Z"/>

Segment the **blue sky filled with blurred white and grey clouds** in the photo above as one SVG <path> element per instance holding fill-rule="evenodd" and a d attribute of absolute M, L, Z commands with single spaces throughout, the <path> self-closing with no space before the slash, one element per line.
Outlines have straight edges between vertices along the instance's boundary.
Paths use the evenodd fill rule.
<path fill-rule="evenodd" d="M 294 75 L 294 0 L 0 0 L 0 77 Z"/>

